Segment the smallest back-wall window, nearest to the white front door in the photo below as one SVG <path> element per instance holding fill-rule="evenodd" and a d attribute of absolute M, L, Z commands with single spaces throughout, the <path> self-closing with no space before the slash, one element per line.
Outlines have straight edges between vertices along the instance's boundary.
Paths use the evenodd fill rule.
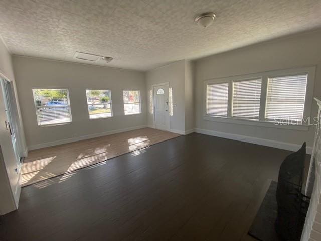
<path fill-rule="evenodd" d="M 125 115 L 140 114 L 140 91 L 139 90 L 124 90 L 124 110 Z"/>

